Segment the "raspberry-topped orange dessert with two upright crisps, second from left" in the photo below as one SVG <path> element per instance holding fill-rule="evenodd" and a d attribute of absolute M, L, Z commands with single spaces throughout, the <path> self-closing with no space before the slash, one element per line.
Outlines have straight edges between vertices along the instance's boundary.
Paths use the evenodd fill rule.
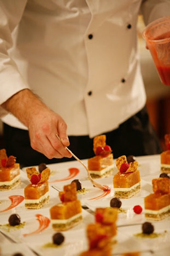
<path fill-rule="evenodd" d="M 26 169 L 31 181 L 24 189 L 25 206 L 29 209 L 39 209 L 49 200 L 48 178 L 50 169 L 46 168 L 39 173 L 35 167 Z"/>

